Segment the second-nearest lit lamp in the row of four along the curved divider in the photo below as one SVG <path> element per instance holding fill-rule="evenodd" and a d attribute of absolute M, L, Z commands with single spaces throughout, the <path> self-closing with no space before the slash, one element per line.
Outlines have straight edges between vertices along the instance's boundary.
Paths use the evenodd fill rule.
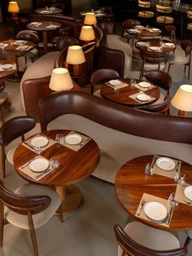
<path fill-rule="evenodd" d="M 72 75 L 78 77 L 80 75 L 80 64 L 85 62 L 85 55 L 81 46 L 69 46 L 66 62 L 72 64 Z"/>

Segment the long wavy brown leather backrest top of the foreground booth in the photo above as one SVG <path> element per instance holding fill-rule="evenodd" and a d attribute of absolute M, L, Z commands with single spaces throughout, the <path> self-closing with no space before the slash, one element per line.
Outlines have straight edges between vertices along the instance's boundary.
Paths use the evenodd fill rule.
<path fill-rule="evenodd" d="M 56 117 L 72 113 L 130 135 L 192 143 L 192 120 L 190 117 L 170 117 L 146 113 L 108 102 L 84 92 L 68 90 L 49 95 L 41 99 L 39 108 L 41 130 L 46 130 L 49 122 Z"/>

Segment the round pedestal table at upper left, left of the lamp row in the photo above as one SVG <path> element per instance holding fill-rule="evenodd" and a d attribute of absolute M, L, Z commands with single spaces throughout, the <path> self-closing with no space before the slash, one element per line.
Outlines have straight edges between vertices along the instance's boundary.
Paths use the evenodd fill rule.
<path fill-rule="evenodd" d="M 59 22 L 55 21 L 46 21 L 46 20 L 40 20 L 37 22 L 31 22 L 27 24 L 28 29 L 36 30 L 42 32 L 42 40 L 43 40 L 43 51 L 48 51 L 48 42 L 47 42 L 47 33 L 48 31 L 60 29 L 61 24 Z"/>

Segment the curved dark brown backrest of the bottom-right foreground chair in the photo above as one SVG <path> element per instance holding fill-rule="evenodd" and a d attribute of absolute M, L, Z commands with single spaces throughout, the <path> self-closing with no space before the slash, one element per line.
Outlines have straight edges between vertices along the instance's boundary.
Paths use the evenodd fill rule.
<path fill-rule="evenodd" d="M 130 236 L 128 236 L 120 225 L 114 227 L 116 240 L 123 249 L 122 256 L 134 255 L 134 256 L 184 256 L 187 255 L 187 249 L 178 248 L 170 250 L 155 250 L 149 249 L 145 246 L 139 245 L 136 241 L 133 241 Z"/>

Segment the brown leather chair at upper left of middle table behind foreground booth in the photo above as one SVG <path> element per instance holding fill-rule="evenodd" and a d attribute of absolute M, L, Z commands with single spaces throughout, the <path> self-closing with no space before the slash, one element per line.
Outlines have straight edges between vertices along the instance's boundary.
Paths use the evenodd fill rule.
<path fill-rule="evenodd" d="M 116 70 L 110 69 L 110 68 L 103 68 L 95 70 L 90 75 L 90 84 L 91 84 L 91 94 L 94 93 L 94 86 L 97 86 L 98 84 L 102 84 L 103 82 L 107 82 L 111 79 L 117 79 L 120 75 Z"/>

